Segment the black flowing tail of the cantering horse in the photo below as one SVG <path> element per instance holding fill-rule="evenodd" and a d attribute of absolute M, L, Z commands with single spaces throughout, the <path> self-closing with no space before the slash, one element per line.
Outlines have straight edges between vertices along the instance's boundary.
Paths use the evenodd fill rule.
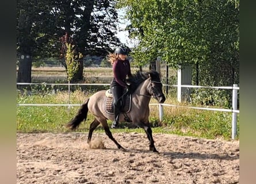
<path fill-rule="evenodd" d="M 87 113 L 88 113 L 88 102 L 89 99 L 86 99 L 86 101 L 82 104 L 81 108 L 78 110 L 77 114 L 74 118 L 72 118 L 66 125 L 67 128 L 71 130 L 75 130 L 79 127 L 81 122 L 86 119 Z"/>

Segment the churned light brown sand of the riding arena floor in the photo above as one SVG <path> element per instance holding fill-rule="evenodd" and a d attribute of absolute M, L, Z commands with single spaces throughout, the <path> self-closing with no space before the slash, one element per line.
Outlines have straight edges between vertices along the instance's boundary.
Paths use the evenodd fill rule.
<path fill-rule="evenodd" d="M 17 183 L 239 183 L 239 141 L 154 134 L 17 133 Z"/>

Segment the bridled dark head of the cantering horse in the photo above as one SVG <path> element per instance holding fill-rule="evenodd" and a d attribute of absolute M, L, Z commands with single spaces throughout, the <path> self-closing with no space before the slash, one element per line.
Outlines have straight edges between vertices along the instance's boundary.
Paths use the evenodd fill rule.
<path fill-rule="evenodd" d="M 162 90 L 162 82 L 160 80 L 159 73 L 156 71 L 148 72 L 148 79 L 150 83 L 148 84 L 147 91 L 153 98 L 157 99 L 159 103 L 165 102 L 165 95 Z"/>

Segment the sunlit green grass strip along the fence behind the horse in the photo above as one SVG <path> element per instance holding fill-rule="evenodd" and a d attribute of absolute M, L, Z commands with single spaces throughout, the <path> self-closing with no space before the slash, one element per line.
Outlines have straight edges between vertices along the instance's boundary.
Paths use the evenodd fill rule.
<path fill-rule="evenodd" d="M 94 92 L 85 93 L 81 90 L 75 90 L 70 94 L 70 104 L 82 104 Z M 26 94 L 21 93 L 21 91 L 17 92 L 17 104 L 67 104 L 67 101 L 68 94 L 65 91 L 52 93 L 50 89 L 47 89 L 47 93 L 34 91 L 32 94 Z M 151 103 L 155 102 L 155 99 L 151 99 Z M 179 104 L 171 97 L 167 97 L 165 103 Z M 17 106 L 17 132 L 68 132 L 64 125 L 75 116 L 78 108 L 79 106 L 72 106 L 68 113 L 66 106 Z M 153 133 L 174 133 L 207 139 L 220 138 L 230 140 L 231 138 L 231 113 L 164 106 L 162 122 L 159 122 L 158 116 L 158 106 L 150 106 L 150 122 Z M 88 132 L 90 122 L 93 119 L 93 116 L 89 113 L 87 121 L 82 122 L 77 131 Z M 108 123 L 110 126 L 111 122 L 108 121 Z M 111 131 L 113 133 L 144 133 L 142 128 L 126 128 L 127 124 L 125 123 L 121 124 L 121 126 L 123 128 L 112 129 Z M 99 126 L 95 132 L 104 132 L 104 130 Z M 236 139 L 239 139 L 239 116 L 238 136 Z"/>

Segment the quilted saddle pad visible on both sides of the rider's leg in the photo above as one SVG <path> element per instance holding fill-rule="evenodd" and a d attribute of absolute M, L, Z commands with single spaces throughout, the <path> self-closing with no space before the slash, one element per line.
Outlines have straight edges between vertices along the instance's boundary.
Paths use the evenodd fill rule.
<path fill-rule="evenodd" d="M 111 90 L 106 90 L 106 98 L 105 98 L 105 111 L 106 113 L 109 114 L 114 114 L 114 104 L 113 104 L 113 94 L 111 93 Z M 121 99 L 122 101 L 122 106 L 120 113 L 128 113 L 131 110 L 131 102 L 132 102 L 132 95 L 131 94 L 126 94 L 123 95 L 123 98 Z"/>

